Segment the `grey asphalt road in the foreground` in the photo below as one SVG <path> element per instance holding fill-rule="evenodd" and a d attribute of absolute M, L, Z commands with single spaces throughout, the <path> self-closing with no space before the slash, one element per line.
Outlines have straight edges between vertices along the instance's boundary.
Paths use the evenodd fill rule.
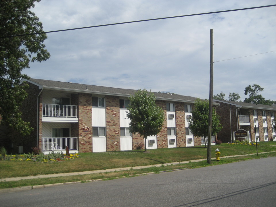
<path fill-rule="evenodd" d="M 0 194 L 0 206 L 276 206 L 276 157 Z"/>

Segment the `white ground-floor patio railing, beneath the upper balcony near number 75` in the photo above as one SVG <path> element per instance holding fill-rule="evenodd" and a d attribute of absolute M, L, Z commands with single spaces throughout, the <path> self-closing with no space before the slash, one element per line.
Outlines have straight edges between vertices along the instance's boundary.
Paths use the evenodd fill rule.
<path fill-rule="evenodd" d="M 65 150 L 65 146 L 69 147 L 69 150 L 78 150 L 78 138 L 77 137 L 45 137 L 42 138 L 42 151 L 50 150 Z"/>

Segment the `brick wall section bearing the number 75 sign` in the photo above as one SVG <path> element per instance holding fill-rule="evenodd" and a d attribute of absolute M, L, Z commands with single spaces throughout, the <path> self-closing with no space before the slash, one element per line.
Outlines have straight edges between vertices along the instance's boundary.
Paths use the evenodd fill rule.
<path fill-rule="evenodd" d="M 92 152 L 92 95 L 80 93 L 78 97 L 79 152 Z M 90 131 L 83 131 L 83 127 Z"/>

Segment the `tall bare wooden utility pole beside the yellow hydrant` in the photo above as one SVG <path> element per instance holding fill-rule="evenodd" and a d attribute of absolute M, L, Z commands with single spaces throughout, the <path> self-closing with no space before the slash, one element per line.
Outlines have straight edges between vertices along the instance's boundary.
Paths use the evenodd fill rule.
<path fill-rule="evenodd" d="M 211 138 L 212 138 L 212 113 L 213 113 L 213 29 L 210 29 L 210 92 L 209 92 L 209 121 L 208 121 L 208 143 L 207 163 L 211 164 Z"/>

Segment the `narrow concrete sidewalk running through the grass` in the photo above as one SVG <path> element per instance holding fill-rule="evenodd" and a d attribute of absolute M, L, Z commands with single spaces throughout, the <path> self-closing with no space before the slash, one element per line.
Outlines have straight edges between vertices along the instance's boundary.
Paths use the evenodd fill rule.
<path fill-rule="evenodd" d="M 274 151 L 276 152 L 276 151 Z M 267 152 L 262 152 L 259 154 L 263 154 Z M 256 154 L 256 153 L 254 153 Z M 248 154 L 248 155 L 254 155 L 254 154 Z M 231 158 L 231 157 L 240 157 L 240 156 L 247 156 L 247 155 L 233 155 L 233 156 L 225 156 L 220 157 L 223 158 Z M 212 158 L 215 159 L 215 158 Z M 28 177 L 12 177 L 12 178 L 1 178 L 0 182 L 9 182 L 9 181 L 19 181 L 19 180 L 27 180 L 27 179 L 38 179 L 38 178 L 49 178 L 49 177 L 65 177 L 70 175 L 87 175 L 87 174 L 93 174 L 93 173 L 106 173 L 106 172 L 114 172 L 114 171 L 121 171 L 121 170 L 129 170 L 129 169 L 142 169 L 142 168 L 149 168 L 152 166 L 160 167 L 162 165 L 176 165 L 176 164 L 185 164 L 189 162 L 200 162 L 207 159 L 200 159 L 200 160 L 188 160 L 183 162 L 171 162 L 166 164 L 154 164 L 154 165 L 147 165 L 147 166 L 136 166 L 136 167 L 125 167 L 125 168 L 114 168 L 114 169 L 106 169 L 106 170 L 91 170 L 91 171 L 84 171 L 84 172 L 74 172 L 74 173 L 58 173 L 58 174 L 49 174 L 49 175 L 34 175 L 34 176 L 28 176 Z"/>

